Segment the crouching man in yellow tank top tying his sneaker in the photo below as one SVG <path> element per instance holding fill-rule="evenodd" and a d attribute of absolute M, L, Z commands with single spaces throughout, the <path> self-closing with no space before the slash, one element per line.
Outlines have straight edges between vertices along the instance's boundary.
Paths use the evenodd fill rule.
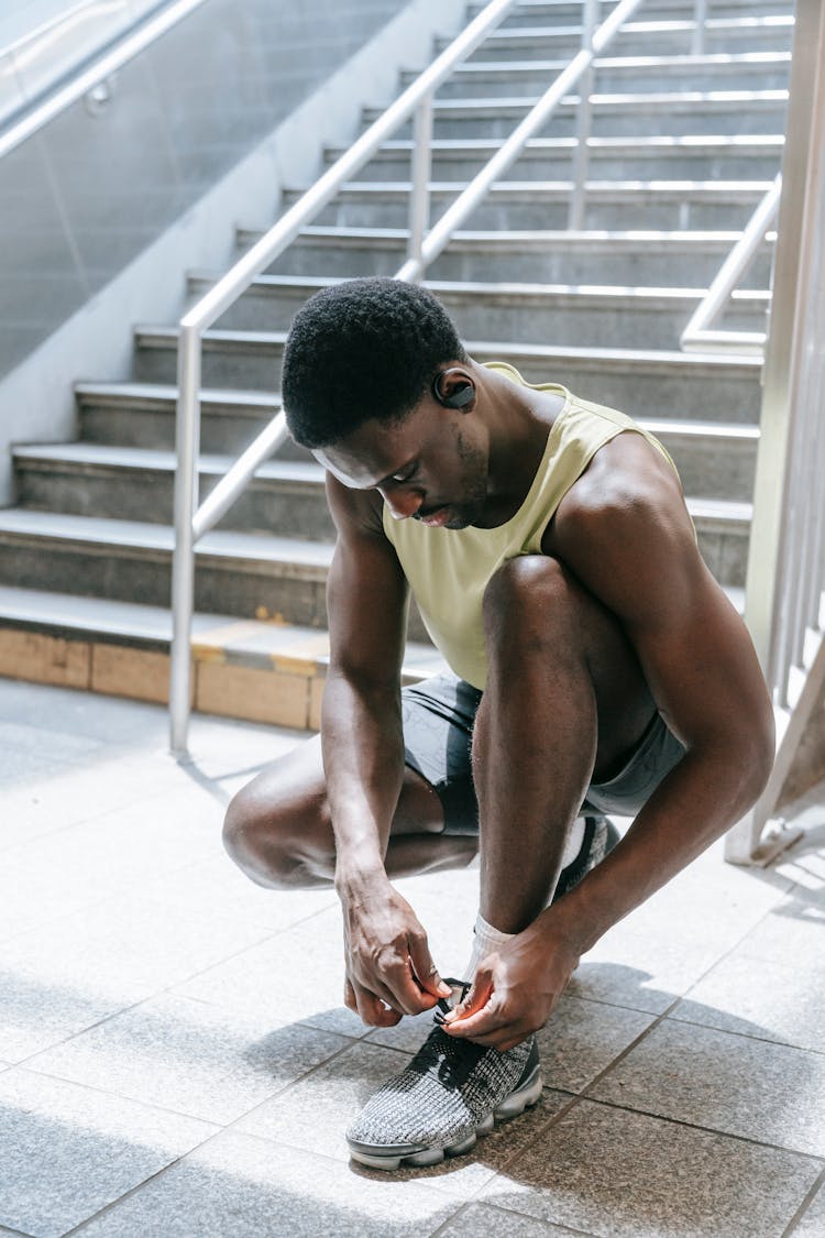
<path fill-rule="evenodd" d="M 334 881 L 365 1023 L 440 1005 L 348 1133 L 367 1165 L 433 1164 L 538 1099 L 533 1032 L 580 956 L 754 802 L 772 709 L 673 463 L 622 413 L 477 364 L 395 280 L 313 297 L 282 389 L 338 529 L 322 735 L 235 799 L 225 839 L 262 885 Z M 454 673 L 402 692 L 409 589 Z M 621 842 L 610 811 L 635 818 Z M 391 878 L 479 846 L 450 1009 Z"/>

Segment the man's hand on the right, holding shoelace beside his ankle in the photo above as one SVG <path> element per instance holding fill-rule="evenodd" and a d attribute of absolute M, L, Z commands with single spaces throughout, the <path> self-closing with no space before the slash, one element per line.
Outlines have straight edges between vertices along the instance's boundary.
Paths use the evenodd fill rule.
<path fill-rule="evenodd" d="M 447 1015 L 444 1031 L 501 1052 L 513 1049 L 544 1026 L 579 954 L 544 912 L 481 959 L 464 1002 Z"/>

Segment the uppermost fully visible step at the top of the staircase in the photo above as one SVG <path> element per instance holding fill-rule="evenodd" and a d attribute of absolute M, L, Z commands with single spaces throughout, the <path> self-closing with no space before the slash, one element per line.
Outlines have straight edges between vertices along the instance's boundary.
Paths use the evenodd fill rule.
<path fill-rule="evenodd" d="M 579 14 L 580 16 L 580 14 Z M 730 52 L 787 52 L 793 40 L 794 19 L 790 14 L 748 17 L 711 17 L 705 22 L 704 50 L 707 53 Z M 644 10 L 638 19 L 628 21 L 613 37 L 609 54 L 616 56 L 688 56 L 693 51 L 696 22 L 688 17 L 665 17 L 652 21 Z M 435 50 L 443 52 L 451 40 L 435 40 Z M 511 24 L 494 30 L 474 59 L 571 59 L 581 48 L 580 21 L 539 25 L 533 21 L 523 26 Z"/>

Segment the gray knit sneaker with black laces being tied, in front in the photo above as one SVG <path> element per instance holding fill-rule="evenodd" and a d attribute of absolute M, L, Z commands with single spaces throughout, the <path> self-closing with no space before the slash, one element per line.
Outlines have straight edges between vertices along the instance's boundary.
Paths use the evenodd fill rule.
<path fill-rule="evenodd" d="M 501 1054 L 435 1026 L 406 1070 L 380 1088 L 346 1132 L 371 1169 L 437 1165 L 459 1156 L 496 1118 L 515 1118 L 542 1094 L 536 1037 Z"/>

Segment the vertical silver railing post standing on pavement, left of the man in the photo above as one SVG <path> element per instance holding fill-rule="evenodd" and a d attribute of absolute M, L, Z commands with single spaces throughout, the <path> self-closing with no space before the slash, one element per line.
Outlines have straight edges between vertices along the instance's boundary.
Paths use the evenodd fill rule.
<path fill-rule="evenodd" d="M 172 556 L 172 647 L 169 655 L 169 747 L 187 751 L 192 699 L 194 613 L 194 514 L 200 449 L 200 332 L 181 327 L 176 415 L 174 552 Z"/>

